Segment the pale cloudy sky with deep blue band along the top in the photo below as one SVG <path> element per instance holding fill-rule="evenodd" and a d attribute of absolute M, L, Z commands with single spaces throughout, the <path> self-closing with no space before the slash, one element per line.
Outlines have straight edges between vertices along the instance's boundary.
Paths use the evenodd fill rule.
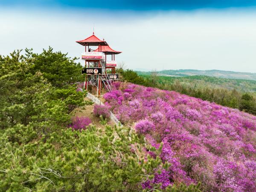
<path fill-rule="evenodd" d="M 256 73 L 256 0 L 0 0 L 1 55 L 81 57 L 93 27 L 129 69 Z"/>

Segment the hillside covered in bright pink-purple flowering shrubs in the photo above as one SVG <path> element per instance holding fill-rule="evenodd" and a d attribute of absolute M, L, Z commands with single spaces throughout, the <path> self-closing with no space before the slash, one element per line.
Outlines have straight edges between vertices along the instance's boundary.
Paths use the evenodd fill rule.
<path fill-rule="evenodd" d="M 177 92 L 115 82 L 103 97 L 122 123 L 134 124 L 167 171 L 145 180 L 201 183 L 203 191 L 256 191 L 256 117 Z M 163 143 L 162 145 L 160 143 Z M 154 157 L 154 149 L 145 149 Z"/>

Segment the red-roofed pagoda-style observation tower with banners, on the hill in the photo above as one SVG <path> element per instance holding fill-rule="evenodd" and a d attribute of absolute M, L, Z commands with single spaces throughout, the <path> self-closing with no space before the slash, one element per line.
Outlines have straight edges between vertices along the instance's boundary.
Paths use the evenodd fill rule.
<path fill-rule="evenodd" d="M 82 69 L 82 74 L 85 74 L 84 89 L 87 90 L 88 86 L 96 88 L 97 97 L 103 86 L 111 91 L 113 80 L 118 80 L 115 55 L 122 52 L 111 49 L 108 43 L 96 37 L 94 32 L 90 37 L 76 42 L 84 46 L 84 52 L 81 53 L 81 59 L 85 60 L 85 67 Z M 110 55 L 111 60 L 108 58 Z"/>

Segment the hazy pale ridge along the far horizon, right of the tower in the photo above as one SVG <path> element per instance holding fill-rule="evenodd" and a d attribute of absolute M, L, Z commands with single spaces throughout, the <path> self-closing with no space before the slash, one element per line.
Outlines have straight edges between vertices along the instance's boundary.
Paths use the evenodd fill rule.
<path fill-rule="evenodd" d="M 144 74 L 150 72 L 142 72 Z M 228 79 L 246 79 L 256 80 L 256 73 L 249 72 L 232 72 L 232 71 L 221 71 L 221 70 L 195 70 L 195 69 L 178 69 L 178 70 L 162 70 L 157 71 L 158 75 L 161 76 L 172 76 L 172 77 L 185 77 L 193 75 L 207 75 L 211 77 L 221 77 Z"/>

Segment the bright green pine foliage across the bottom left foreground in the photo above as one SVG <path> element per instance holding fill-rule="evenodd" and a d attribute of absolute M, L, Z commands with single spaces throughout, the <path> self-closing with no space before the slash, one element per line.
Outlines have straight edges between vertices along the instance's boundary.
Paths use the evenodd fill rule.
<path fill-rule="evenodd" d="M 3 191 L 116 191 L 137 189 L 142 175 L 160 165 L 160 160 L 150 159 L 139 163 L 130 145 L 138 138 L 116 138 L 128 135 L 129 129 L 108 127 L 107 134 L 98 136 L 96 128 L 78 132 L 64 129 L 52 132 L 47 138 L 30 140 L 19 145 L 15 140 L 0 137 L 0 189 Z M 16 132 L 15 132 L 16 130 Z M 16 135 L 15 129 L 11 136 Z M 23 138 L 23 135 L 18 132 Z M 47 138 L 47 139 L 46 139 Z M 142 147 L 142 146 L 140 146 Z M 140 150 L 137 149 L 137 150 Z M 12 157 L 15 157 L 13 160 Z M 143 170 L 147 171 L 143 171 Z M 125 183 L 125 184 L 124 184 Z"/>

